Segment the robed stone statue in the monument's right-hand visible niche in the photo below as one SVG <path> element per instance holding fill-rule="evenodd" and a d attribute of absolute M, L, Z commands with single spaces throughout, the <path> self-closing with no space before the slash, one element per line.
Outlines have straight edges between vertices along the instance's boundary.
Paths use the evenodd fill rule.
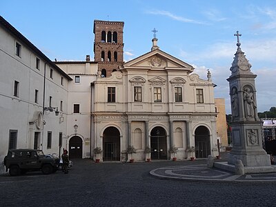
<path fill-rule="evenodd" d="M 256 104 L 254 101 L 253 92 L 249 88 L 244 89 L 244 111 L 246 118 L 254 118 Z"/>

